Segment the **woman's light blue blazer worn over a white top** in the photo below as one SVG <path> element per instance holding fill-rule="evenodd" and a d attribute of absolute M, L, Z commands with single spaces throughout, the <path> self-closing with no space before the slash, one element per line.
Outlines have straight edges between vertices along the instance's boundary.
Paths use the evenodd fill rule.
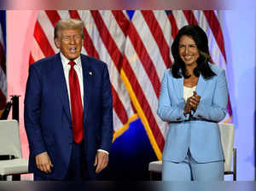
<path fill-rule="evenodd" d="M 206 79 L 200 75 L 196 87 L 201 101 L 196 111 L 183 115 L 183 78 L 174 78 L 168 69 L 161 83 L 157 113 L 170 122 L 163 160 L 181 162 L 188 149 L 199 163 L 224 159 L 218 122 L 224 119 L 228 102 L 228 88 L 224 70 L 209 64 L 216 76 Z"/>

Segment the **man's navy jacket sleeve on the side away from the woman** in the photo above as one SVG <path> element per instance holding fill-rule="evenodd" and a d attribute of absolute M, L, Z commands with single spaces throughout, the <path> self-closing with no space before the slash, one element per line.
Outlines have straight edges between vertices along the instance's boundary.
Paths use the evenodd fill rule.
<path fill-rule="evenodd" d="M 40 126 L 40 95 L 42 85 L 38 76 L 37 68 L 32 65 L 29 68 L 24 101 L 26 136 L 32 156 L 46 151 Z"/>

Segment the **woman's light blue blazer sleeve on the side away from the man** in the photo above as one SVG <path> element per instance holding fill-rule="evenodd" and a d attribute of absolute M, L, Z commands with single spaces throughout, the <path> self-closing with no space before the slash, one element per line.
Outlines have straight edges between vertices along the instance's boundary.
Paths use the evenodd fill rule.
<path fill-rule="evenodd" d="M 195 113 L 192 113 L 193 117 L 216 122 L 224 119 L 228 104 L 228 87 L 224 70 L 218 75 L 213 93 L 212 102 L 200 101 Z"/>

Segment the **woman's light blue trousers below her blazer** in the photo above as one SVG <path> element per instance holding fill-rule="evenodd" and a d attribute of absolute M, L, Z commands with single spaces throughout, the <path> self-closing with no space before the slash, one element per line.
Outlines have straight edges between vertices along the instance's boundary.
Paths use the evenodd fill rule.
<path fill-rule="evenodd" d="M 224 161 L 197 163 L 188 151 L 180 163 L 163 160 L 163 181 L 223 181 Z"/>

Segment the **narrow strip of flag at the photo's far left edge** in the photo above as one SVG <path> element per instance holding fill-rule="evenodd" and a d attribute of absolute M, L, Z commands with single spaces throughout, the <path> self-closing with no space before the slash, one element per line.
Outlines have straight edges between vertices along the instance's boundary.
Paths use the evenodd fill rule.
<path fill-rule="evenodd" d="M 4 109 L 7 100 L 5 28 L 5 10 L 0 10 L 0 110 Z"/>

